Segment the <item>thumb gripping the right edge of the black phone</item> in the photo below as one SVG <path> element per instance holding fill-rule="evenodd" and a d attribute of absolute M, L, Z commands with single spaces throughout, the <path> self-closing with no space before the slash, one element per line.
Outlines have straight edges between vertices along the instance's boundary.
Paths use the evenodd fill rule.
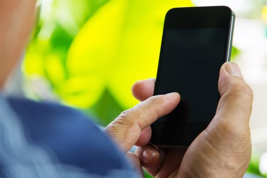
<path fill-rule="evenodd" d="M 218 87 L 221 99 L 214 120 L 220 118 L 220 121 L 228 125 L 248 125 L 252 111 L 253 92 L 244 81 L 238 65 L 228 62 L 221 67 Z"/>

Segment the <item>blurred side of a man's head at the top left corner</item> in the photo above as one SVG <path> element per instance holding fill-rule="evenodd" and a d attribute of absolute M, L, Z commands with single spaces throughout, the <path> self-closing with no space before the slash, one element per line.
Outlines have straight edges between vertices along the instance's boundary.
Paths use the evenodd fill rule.
<path fill-rule="evenodd" d="M 0 1 L 0 87 L 16 65 L 34 22 L 36 0 Z"/>

